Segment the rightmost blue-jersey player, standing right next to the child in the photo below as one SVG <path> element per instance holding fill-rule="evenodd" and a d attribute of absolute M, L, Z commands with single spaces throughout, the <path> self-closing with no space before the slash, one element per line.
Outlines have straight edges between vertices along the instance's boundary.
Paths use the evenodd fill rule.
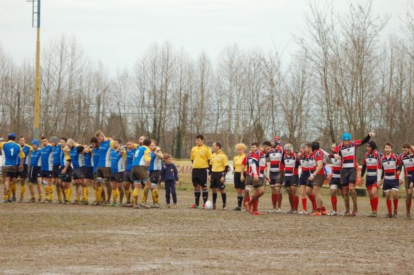
<path fill-rule="evenodd" d="M 164 155 L 162 154 L 161 149 L 158 147 L 157 141 L 155 141 L 155 139 L 151 140 L 149 148 L 151 150 L 150 167 L 148 167 L 148 171 L 150 172 L 150 184 L 148 186 L 146 185 L 144 188 L 142 200 L 144 201 L 144 198 L 147 198 L 149 187 L 152 194 L 151 208 L 159 208 L 157 185 L 161 176 L 161 161 L 164 159 Z M 145 194 L 146 188 L 147 195 Z M 146 203 L 146 201 L 143 203 Z"/>

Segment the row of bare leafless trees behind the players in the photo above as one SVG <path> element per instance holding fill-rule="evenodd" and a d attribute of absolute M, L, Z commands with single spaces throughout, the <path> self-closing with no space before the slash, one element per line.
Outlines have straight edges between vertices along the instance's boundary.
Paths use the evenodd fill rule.
<path fill-rule="evenodd" d="M 177 158 L 188 157 L 197 133 L 230 155 L 235 143 L 273 135 L 296 148 L 312 140 L 328 147 L 345 131 L 374 131 L 379 144 L 400 147 L 414 134 L 414 8 L 401 34 L 384 41 L 388 18 L 374 17 L 371 5 L 337 14 L 311 3 L 288 63 L 277 51 L 237 45 L 215 62 L 205 52 L 193 59 L 166 42 L 110 76 L 62 36 L 41 55 L 41 133 L 83 143 L 98 129 L 123 140 L 146 135 Z M 33 65 L 16 65 L 0 48 L 2 136 L 32 135 Z"/>

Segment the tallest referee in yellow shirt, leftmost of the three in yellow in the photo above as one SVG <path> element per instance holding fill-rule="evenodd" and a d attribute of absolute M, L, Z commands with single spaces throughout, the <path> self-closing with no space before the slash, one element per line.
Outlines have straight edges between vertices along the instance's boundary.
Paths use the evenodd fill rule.
<path fill-rule="evenodd" d="M 206 207 L 206 201 L 208 199 L 207 189 L 207 173 L 208 166 L 210 165 L 211 150 L 204 145 L 204 136 L 198 134 L 195 136 L 195 146 L 191 149 L 190 160 L 193 163 L 193 171 L 191 172 L 191 181 L 194 186 L 195 204 L 191 205 L 191 209 L 199 208 L 201 190 L 203 190 L 203 205 Z"/>

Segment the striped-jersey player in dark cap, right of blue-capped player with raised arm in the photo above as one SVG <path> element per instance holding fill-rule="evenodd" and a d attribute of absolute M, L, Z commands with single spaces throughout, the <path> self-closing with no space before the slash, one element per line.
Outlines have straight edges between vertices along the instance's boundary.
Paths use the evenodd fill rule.
<path fill-rule="evenodd" d="M 368 216 L 376 217 L 378 209 L 378 185 L 381 181 L 381 158 L 383 154 L 377 152 L 377 144 L 375 141 L 368 141 L 366 143 L 366 154 L 362 161 L 361 182 L 364 184 L 369 194 L 369 202 L 371 210 L 373 211 Z M 366 172 L 366 179 L 364 174 Z"/>

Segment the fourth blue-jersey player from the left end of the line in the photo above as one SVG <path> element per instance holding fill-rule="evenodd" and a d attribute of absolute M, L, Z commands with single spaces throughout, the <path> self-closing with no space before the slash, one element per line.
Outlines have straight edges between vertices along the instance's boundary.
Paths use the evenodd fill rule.
<path fill-rule="evenodd" d="M 43 185 L 45 186 L 45 201 L 44 203 L 52 203 L 53 200 L 53 183 L 52 183 L 52 170 L 53 170 L 53 146 L 49 143 L 46 136 L 41 136 L 41 171 L 40 177 Z"/>

